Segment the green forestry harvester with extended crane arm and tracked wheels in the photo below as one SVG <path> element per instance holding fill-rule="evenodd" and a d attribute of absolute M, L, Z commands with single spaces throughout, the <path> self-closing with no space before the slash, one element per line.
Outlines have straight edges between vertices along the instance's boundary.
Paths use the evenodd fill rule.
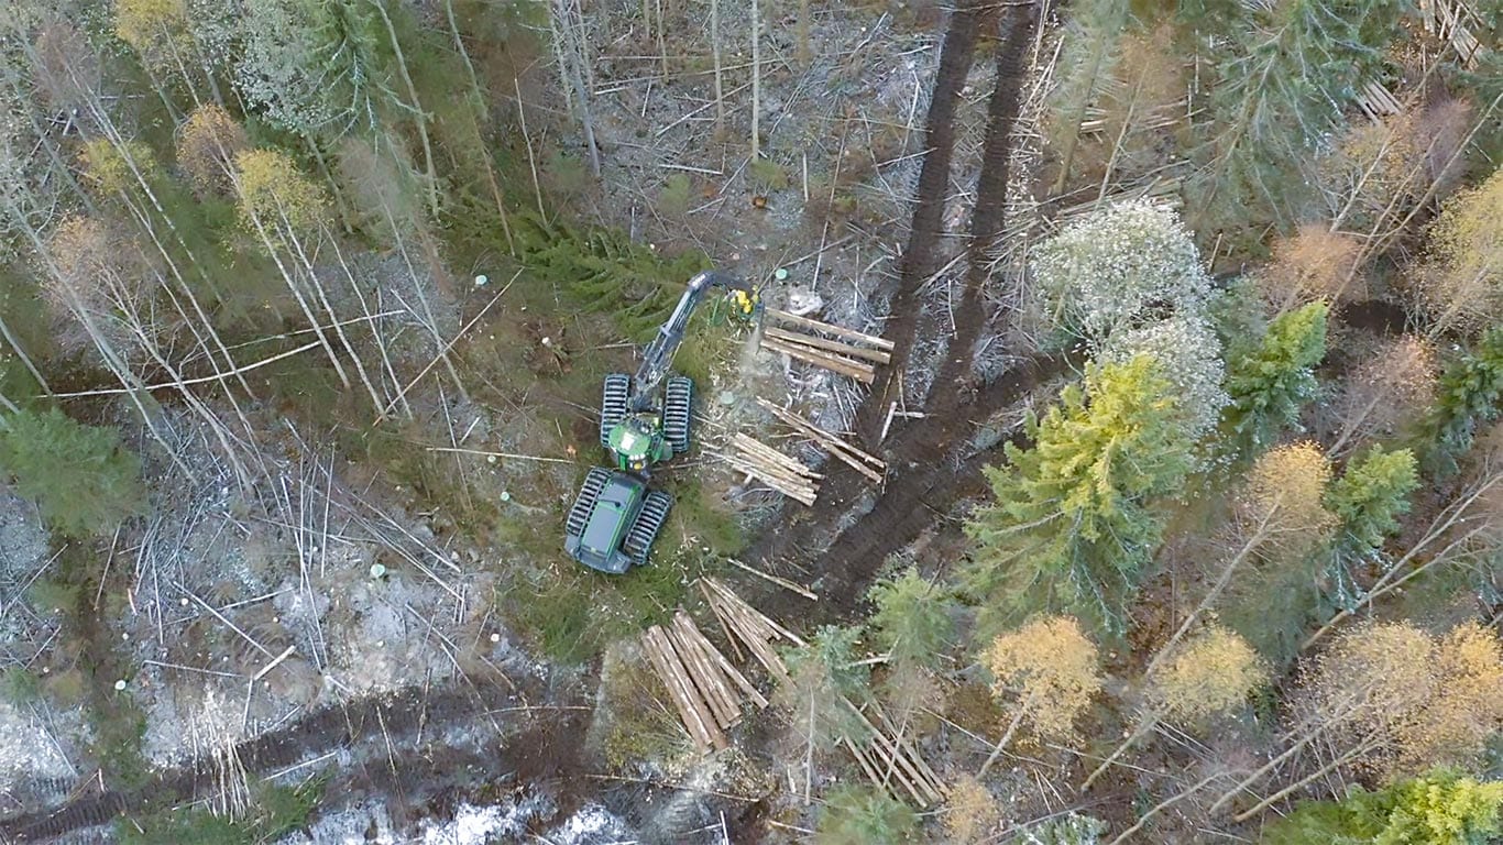
<path fill-rule="evenodd" d="M 736 316 L 750 319 L 758 295 L 750 284 L 705 271 L 688 280 L 669 319 L 642 355 L 636 376 L 612 373 L 600 401 L 600 445 L 615 469 L 594 468 L 564 525 L 564 550 L 594 570 L 621 574 L 643 565 L 673 498 L 648 490 L 652 466 L 688 451 L 694 382 L 670 376 L 694 307 L 711 287 L 730 292 Z"/>

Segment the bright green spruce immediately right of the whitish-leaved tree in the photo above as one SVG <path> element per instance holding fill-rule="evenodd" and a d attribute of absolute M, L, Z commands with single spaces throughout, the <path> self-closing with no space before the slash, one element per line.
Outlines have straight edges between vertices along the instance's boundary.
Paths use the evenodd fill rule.
<path fill-rule="evenodd" d="M 1228 450 L 1254 457 L 1293 427 L 1305 403 L 1315 398 L 1315 365 L 1326 358 L 1326 302 L 1281 314 L 1252 347 L 1228 356 L 1222 415 Z"/>

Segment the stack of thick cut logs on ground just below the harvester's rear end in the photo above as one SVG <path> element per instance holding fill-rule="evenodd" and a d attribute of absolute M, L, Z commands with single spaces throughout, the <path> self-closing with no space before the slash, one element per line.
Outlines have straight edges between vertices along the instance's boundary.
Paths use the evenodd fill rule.
<path fill-rule="evenodd" d="M 642 635 L 642 651 L 667 689 L 694 749 L 729 747 L 726 731 L 741 722 L 741 702 L 758 707 L 768 701 L 726 660 L 684 610 L 667 627 L 652 625 Z"/>

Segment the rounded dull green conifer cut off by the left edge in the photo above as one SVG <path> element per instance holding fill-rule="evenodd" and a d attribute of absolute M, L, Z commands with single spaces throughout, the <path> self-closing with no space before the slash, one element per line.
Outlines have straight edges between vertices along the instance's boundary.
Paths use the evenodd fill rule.
<path fill-rule="evenodd" d="M 120 435 L 56 407 L 0 418 L 0 472 L 68 537 L 108 531 L 146 504 L 140 459 Z"/>

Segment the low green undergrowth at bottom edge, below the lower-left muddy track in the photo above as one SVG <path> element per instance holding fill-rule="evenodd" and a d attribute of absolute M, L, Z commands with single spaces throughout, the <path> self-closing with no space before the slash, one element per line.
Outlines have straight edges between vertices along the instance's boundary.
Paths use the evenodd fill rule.
<path fill-rule="evenodd" d="M 201 806 L 161 810 L 116 822 L 120 845 L 263 845 L 277 842 L 308 824 L 319 806 L 325 782 L 278 786 L 259 782 L 251 786 L 251 807 L 245 818 L 218 816 Z"/>

